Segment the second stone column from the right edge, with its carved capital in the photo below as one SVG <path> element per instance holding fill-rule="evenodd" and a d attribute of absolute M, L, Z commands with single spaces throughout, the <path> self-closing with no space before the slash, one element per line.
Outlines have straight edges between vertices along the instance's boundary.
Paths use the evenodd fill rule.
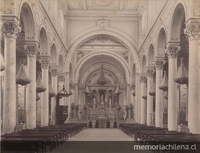
<path fill-rule="evenodd" d="M 179 43 L 168 43 L 166 53 L 169 59 L 168 69 L 168 130 L 178 130 L 178 101 L 177 101 L 177 84 L 174 78 L 177 74 L 177 56 L 180 51 Z"/>

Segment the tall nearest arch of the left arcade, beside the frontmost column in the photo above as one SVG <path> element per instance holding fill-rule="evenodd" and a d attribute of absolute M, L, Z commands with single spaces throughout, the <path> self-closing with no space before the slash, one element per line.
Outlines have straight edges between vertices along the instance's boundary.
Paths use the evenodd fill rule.
<path fill-rule="evenodd" d="M 27 39 L 36 40 L 37 31 L 36 31 L 35 17 L 31 4 L 29 4 L 28 1 L 21 2 L 17 16 L 23 20 L 24 30 L 25 30 L 25 40 Z"/>

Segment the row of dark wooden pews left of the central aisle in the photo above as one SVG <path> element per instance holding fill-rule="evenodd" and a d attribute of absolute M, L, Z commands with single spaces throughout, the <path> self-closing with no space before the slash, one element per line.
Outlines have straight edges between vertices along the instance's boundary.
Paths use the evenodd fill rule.
<path fill-rule="evenodd" d="M 5 134 L 1 136 L 1 152 L 45 153 L 48 149 L 52 151 L 85 128 L 87 128 L 85 123 L 68 123 Z"/>

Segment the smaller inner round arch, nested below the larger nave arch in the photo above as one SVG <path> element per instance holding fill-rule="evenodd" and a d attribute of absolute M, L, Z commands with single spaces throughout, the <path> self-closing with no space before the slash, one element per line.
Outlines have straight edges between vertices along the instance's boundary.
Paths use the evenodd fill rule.
<path fill-rule="evenodd" d="M 98 51 L 98 52 L 92 52 L 92 53 L 89 53 L 85 58 L 81 59 L 78 63 L 77 63 L 77 67 L 75 69 L 75 82 L 78 81 L 78 76 L 79 76 L 79 71 L 82 67 L 82 65 L 90 58 L 94 57 L 94 56 L 98 56 L 98 55 L 107 55 L 107 56 L 111 56 L 113 58 L 115 58 L 117 61 L 119 61 L 125 72 L 126 72 L 126 81 L 127 81 L 127 84 L 130 82 L 129 78 L 130 78 L 130 71 L 129 71 L 129 67 L 128 67 L 128 64 L 127 62 L 120 56 L 120 55 L 117 55 L 117 54 L 114 54 L 112 52 L 109 52 L 109 51 Z"/>

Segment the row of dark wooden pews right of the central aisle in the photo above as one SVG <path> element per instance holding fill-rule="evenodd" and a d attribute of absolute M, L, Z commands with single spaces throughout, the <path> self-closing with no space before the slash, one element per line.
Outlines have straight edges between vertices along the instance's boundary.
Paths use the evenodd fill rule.
<path fill-rule="evenodd" d="M 200 151 L 200 134 L 192 134 L 188 132 L 169 131 L 167 128 L 147 126 L 143 124 L 119 124 L 119 129 L 134 138 L 139 145 L 160 145 L 160 146 L 177 146 L 177 145 L 195 145 L 195 150 L 189 152 Z M 155 150 L 153 150 L 155 152 Z M 159 152 L 166 152 L 160 150 Z M 167 152 L 178 152 L 171 147 Z M 179 150 L 180 152 L 180 150 Z M 184 152 L 183 150 L 181 152 Z M 188 150 L 185 150 L 188 152 Z"/>

